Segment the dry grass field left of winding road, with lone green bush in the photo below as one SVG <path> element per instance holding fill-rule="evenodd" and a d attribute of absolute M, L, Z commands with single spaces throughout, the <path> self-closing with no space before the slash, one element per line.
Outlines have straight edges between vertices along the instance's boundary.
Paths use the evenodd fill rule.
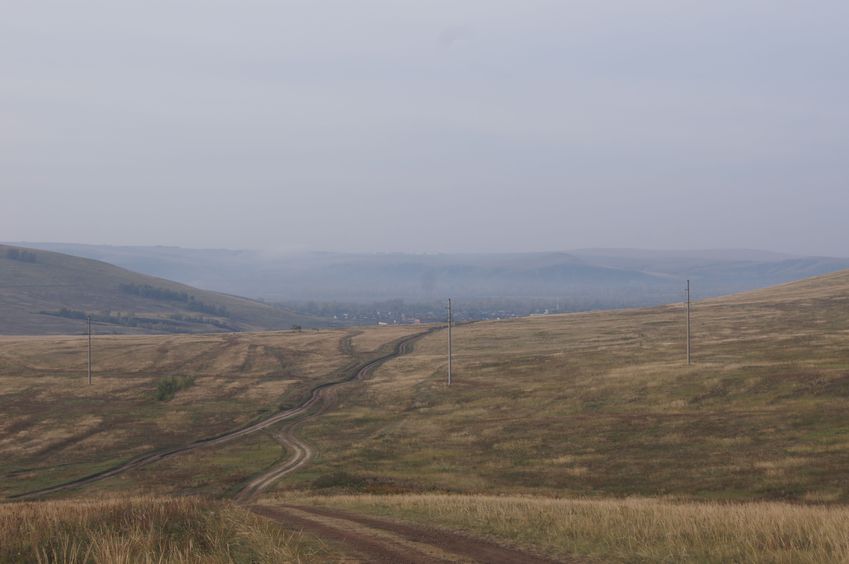
<path fill-rule="evenodd" d="M 0 337 L 0 495 L 243 426 L 419 330 L 95 337 L 91 386 L 83 337 Z M 171 379 L 184 385 L 163 395 Z M 210 450 L 163 462 L 163 475 L 143 469 L 138 482 L 116 478 L 107 489 L 219 494 L 282 455 L 263 435 Z M 206 474 L 187 460 L 205 460 Z"/>

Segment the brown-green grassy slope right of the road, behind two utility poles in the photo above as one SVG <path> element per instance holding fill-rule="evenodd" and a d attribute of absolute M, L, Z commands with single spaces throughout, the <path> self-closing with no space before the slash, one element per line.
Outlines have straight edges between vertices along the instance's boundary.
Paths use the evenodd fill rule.
<path fill-rule="evenodd" d="M 849 274 L 684 311 L 477 323 L 381 367 L 303 428 L 281 487 L 845 503 Z"/>

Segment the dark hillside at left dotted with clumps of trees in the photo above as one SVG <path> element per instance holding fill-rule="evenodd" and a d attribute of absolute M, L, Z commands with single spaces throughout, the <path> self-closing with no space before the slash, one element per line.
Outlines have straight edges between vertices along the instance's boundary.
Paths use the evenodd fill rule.
<path fill-rule="evenodd" d="M 319 320 L 105 262 L 0 245 L 0 334 L 289 329 Z"/>

